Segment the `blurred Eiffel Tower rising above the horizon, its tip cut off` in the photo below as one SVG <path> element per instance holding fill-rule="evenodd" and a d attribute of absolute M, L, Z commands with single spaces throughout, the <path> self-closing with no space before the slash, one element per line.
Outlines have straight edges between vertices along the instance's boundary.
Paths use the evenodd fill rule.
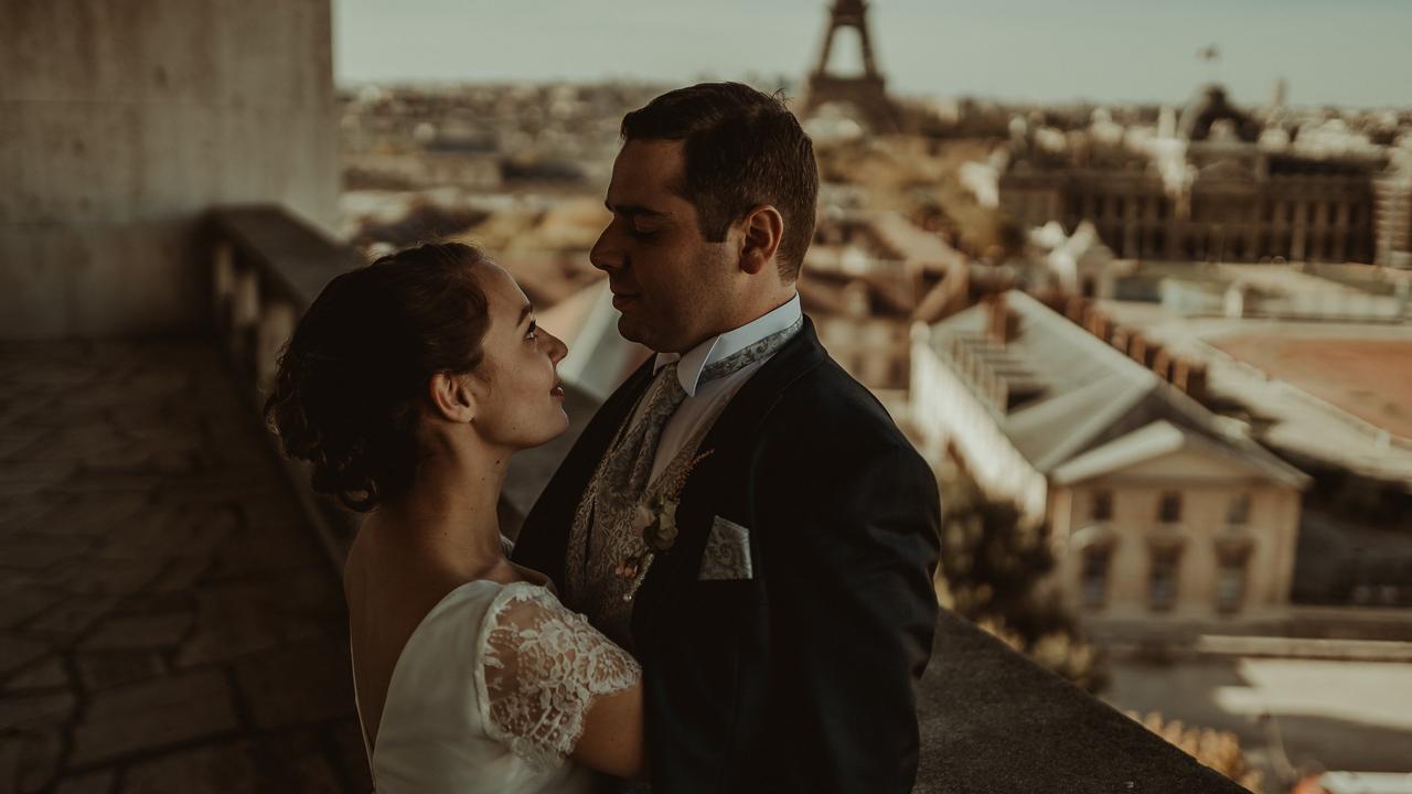
<path fill-rule="evenodd" d="M 851 105 L 874 133 L 895 133 L 901 127 L 901 114 L 887 96 L 887 83 L 873 61 L 873 40 L 868 37 L 868 8 L 866 0 L 834 0 L 829 8 L 829 30 L 823 35 L 823 51 L 819 65 L 809 73 L 809 93 L 803 103 L 803 116 L 830 102 Z M 833 40 L 840 28 L 858 31 L 863 45 L 863 73 L 839 76 L 829 73 L 829 55 Z"/>

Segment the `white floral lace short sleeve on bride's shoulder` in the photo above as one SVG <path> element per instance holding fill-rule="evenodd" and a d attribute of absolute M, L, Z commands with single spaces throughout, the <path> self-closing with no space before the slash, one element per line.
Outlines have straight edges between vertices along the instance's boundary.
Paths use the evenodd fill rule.
<path fill-rule="evenodd" d="M 594 698 L 642 671 L 544 588 L 511 585 L 486 615 L 477 674 L 486 730 L 542 770 L 573 752 Z"/>

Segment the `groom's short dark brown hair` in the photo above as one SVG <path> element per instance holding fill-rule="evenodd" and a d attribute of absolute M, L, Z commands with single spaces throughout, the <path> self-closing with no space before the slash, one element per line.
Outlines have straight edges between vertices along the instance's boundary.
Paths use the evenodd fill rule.
<path fill-rule="evenodd" d="M 679 140 L 686 177 L 675 191 L 692 202 L 702 235 L 722 242 L 730 225 L 771 205 L 785 220 L 779 273 L 799 275 L 813 239 L 819 165 L 813 141 L 777 96 L 741 83 L 669 90 L 623 117 L 624 140 Z"/>

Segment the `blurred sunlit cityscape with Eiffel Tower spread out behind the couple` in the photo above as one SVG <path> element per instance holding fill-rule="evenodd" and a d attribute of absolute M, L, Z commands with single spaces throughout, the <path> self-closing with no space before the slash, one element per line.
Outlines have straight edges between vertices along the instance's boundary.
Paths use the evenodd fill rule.
<path fill-rule="evenodd" d="M 866 11 L 833 3 L 812 71 L 757 86 L 785 89 L 816 141 L 799 291 L 826 348 L 943 486 L 1042 527 L 1036 593 L 1103 648 L 1111 704 L 1234 732 L 1264 791 L 1405 771 L 1405 721 L 1348 742 L 1296 705 L 1272 737 L 1261 715 L 1299 687 L 1258 709 L 1182 687 L 1285 664 L 1339 688 L 1341 661 L 1412 661 L 1412 109 L 1291 107 L 1284 82 L 904 102 Z M 863 71 L 839 75 L 850 28 Z M 347 88 L 345 235 L 369 254 L 483 244 L 602 398 L 645 352 L 611 331 L 587 249 L 618 122 L 668 88 Z"/>

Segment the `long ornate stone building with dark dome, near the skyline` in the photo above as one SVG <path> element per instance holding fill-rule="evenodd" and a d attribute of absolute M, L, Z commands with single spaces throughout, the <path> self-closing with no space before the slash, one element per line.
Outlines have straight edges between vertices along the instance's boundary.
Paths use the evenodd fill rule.
<path fill-rule="evenodd" d="M 1375 199 L 1387 157 L 1315 158 L 1260 143 L 1260 124 L 1219 86 L 1173 120 L 1145 140 L 1070 133 L 1059 151 L 1017 129 L 1001 206 L 1028 226 L 1089 220 L 1124 259 L 1382 263 L 1375 239 L 1387 236 L 1388 250 L 1401 242 L 1378 229 L 1401 218 L 1401 182 Z"/>

